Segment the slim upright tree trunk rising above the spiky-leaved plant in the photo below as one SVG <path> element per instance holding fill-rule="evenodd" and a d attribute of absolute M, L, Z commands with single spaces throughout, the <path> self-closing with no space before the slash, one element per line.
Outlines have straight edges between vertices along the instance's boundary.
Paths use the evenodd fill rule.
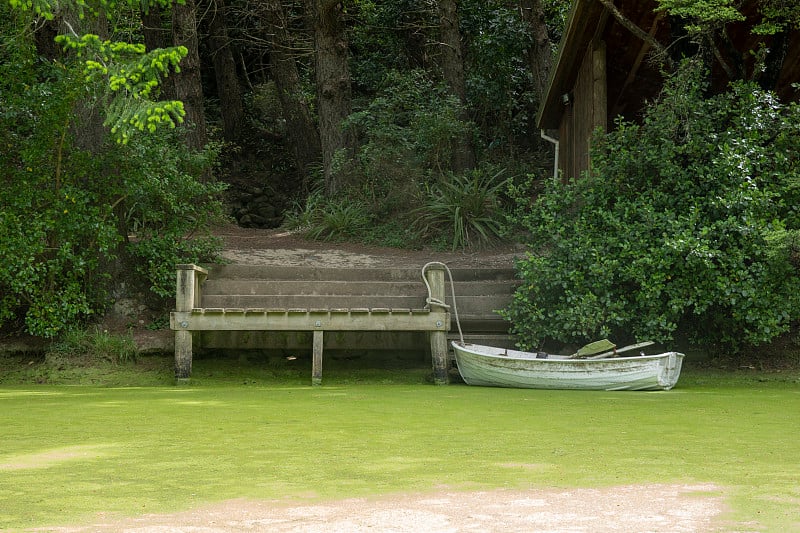
<path fill-rule="evenodd" d="M 466 115 L 467 89 L 464 78 L 464 60 L 461 50 L 461 31 L 458 27 L 458 10 L 455 0 L 439 0 L 439 24 L 442 37 L 442 72 L 450 91 L 458 97 L 462 106 L 461 119 L 468 121 Z M 456 172 L 475 167 L 475 149 L 470 139 L 464 137 L 456 144 L 453 161 Z"/>

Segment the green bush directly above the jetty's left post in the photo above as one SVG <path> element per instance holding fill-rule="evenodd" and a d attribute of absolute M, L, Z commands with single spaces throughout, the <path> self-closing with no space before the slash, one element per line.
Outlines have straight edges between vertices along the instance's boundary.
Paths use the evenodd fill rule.
<path fill-rule="evenodd" d="M 218 147 L 186 149 L 179 134 L 133 135 L 110 154 L 122 176 L 117 213 L 135 272 L 157 296 L 175 294 L 175 265 L 215 259 L 221 243 L 206 228 L 224 218 L 223 183 L 203 180 Z"/>

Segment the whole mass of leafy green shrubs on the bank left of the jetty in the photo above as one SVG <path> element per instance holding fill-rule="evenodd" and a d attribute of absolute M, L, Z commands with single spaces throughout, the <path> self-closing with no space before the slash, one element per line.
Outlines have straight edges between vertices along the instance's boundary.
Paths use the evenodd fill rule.
<path fill-rule="evenodd" d="M 174 132 L 151 128 L 114 143 L 83 113 L 108 109 L 108 78 L 87 80 L 72 57 L 36 58 L 25 17 L 6 4 L 0 24 L 8 52 L 0 59 L 0 325 L 54 337 L 98 317 L 127 254 L 166 295 L 176 262 L 197 257 L 198 246 L 205 257 L 212 251 L 189 243 L 220 212 L 220 187 L 197 179 L 214 150 L 193 154 Z"/>

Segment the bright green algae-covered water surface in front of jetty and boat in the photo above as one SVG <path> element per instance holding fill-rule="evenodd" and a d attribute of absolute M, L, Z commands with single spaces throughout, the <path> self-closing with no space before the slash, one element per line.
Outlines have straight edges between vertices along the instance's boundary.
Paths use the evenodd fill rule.
<path fill-rule="evenodd" d="M 425 366 L 332 362 L 311 388 L 302 361 L 199 359 L 179 388 L 170 364 L 113 365 L 104 387 L 5 372 L 0 529 L 238 497 L 672 482 L 718 485 L 725 518 L 748 530 L 800 528 L 797 373 L 688 368 L 669 392 L 587 393 L 436 387 Z M 122 383 L 137 365 L 151 377 Z"/>

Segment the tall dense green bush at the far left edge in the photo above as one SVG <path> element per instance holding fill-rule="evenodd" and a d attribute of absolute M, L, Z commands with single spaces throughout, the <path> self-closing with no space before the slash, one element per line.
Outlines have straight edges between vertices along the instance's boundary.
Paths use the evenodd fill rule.
<path fill-rule="evenodd" d="M 17 57 L 21 43 L 8 44 Z M 105 305 L 101 266 L 120 237 L 93 187 L 98 162 L 72 144 L 80 81 L 39 65 L 43 81 L 20 84 L 14 66 L 0 62 L 0 325 L 51 337 Z"/>

